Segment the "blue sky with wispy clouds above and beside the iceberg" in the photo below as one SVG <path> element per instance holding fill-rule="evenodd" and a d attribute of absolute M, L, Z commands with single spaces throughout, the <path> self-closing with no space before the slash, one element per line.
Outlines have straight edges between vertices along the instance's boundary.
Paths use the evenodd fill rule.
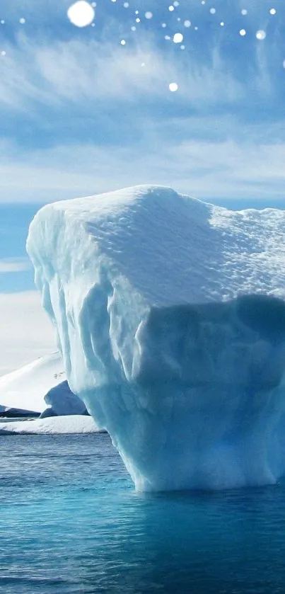
<path fill-rule="evenodd" d="M 84 28 L 71 4 L 1 1 L 4 314 L 11 293 L 33 293 L 24 245 L 41 203 L 160 183 L 284 205 L 284 0 L 97 0 Z"/>

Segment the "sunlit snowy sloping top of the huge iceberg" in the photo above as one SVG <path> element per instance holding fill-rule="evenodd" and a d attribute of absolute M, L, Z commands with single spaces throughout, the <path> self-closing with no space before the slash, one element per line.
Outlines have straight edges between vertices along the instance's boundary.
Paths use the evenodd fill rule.
<path fill-rule="evenodd" d="M 52 241 L 47 220 L 54 222 Z M 233 212 L 169 188 L 141 185 L 54 202 L 35 222 L 42 222 L 42 238 L 50 246 L 64 234 L 66 253 L 57 258 L 62 270 L 68 246 L 76 247 L 76 231 L 74 273 L 86 271 L 95 253 L 105 255 L 148 304 L 158 307 L 224 301 L 240 293 L 285 295 L 284 211 Z M 82 234 L 89 237 L 84 267 Z"/>

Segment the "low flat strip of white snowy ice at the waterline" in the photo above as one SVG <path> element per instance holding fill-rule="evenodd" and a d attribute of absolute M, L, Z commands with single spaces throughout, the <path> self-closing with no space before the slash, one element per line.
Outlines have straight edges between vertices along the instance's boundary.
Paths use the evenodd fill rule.
<path fill-rule="evenodd" d="M 91 416 L 69 415 L 48 418 L 33 418 L 28 421 L 1 423 L 0 435 L 21 433 L 99 433 L 100 429 Z"/>

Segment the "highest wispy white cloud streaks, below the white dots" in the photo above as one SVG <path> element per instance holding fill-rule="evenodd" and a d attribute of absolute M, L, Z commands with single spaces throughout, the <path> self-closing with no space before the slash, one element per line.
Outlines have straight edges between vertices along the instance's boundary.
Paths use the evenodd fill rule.
<path fill-rule="evenodd" d="M 16 45 L 7 45 L 1 61 L 0 101 L 18 110 L 29 103 L 69 102 L 69 109 L 77 105 L 86 111 L 88 102 L 95 100 L 129 103 L 140 95 L 153 101 L 170 99 L 171 81 L 178 82 L 182 102 L 195 106 L 197 101 L 236 103 L 246 91 L 231 72 L 225 72 L 218 47 L 213 47 L 211 64 L 206 66 L 197 57 L 178 60 L 171 52 L 160 52 L 147 37 L 134 47 L 122 48 L 118 42 L 95 40 L 39 45 L 19 35 Z"/>

